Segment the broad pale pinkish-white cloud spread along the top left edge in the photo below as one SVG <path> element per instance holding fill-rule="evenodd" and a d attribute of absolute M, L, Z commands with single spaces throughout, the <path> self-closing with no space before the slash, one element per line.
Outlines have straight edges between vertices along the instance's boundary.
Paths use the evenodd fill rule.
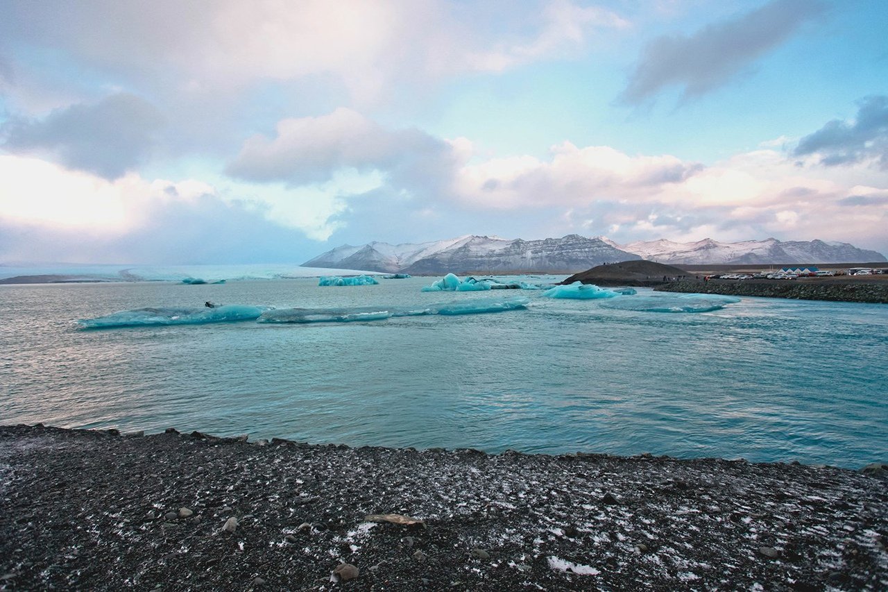
<path fill-rule="evenodd" d="M 461 4 L 444 0 L 177 0 L 4 4 L 0 39 L 51 47 L 90 69 L 153 92 L 202 95 L 258 81 L 332 76 L 358 102 L 464 72 L 501 71 L 582 49 L 594 31 L 626 25 L 567 0 Z M 488 22 L 511 23 L 488 27 Z M 4 45 L 0 41 L 0 49 Z M 143 80 L 144 81 L 144 80 Z"/>

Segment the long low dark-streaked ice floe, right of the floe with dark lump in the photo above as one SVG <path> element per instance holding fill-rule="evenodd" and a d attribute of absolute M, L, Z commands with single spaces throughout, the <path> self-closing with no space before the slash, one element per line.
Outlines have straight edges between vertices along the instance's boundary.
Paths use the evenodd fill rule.
<path fill-rule="evenodd" d="M 355 321 L 382 321 L 401 316 L 425 315 L 480 315 L 485 313 L 523 310 L 530 300 L 475 299 L 456 300 L 418 307 L 361 307 L 361 308 L 277 308 L 267 310 L 259 317 L 259 323 L 352 323 Z"/>

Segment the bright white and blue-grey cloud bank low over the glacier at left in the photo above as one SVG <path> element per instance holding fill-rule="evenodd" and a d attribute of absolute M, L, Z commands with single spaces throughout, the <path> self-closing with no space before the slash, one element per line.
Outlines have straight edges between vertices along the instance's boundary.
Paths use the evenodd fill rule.
<path fill-rule="evenodd" d="M 301 219 L 284 224 L 274 210 L 287 204 L 286 192 L 271 196 L 255 189 L 146 180 L 135 173 L 111 181 L 34 157 L 0 156 L 0 261 L 307 259 L 317 250 L 308 236 L 322 234 L 337 210 L 307 204 Z M 303 197 L 289 196 L 291 202 Z"/>

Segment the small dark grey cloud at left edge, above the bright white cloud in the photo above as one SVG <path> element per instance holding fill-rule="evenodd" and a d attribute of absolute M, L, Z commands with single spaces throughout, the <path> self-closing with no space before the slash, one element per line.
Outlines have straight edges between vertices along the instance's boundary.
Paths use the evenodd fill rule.
<path fill-rule="evenodd" d="M 56 109 L 43 119 L 13 118 L 0 132 L 9 152 L 49 157 L 116 179 L 144 162 L 163 123 L 147 100 L 119 92 L 97 103 Z"/>

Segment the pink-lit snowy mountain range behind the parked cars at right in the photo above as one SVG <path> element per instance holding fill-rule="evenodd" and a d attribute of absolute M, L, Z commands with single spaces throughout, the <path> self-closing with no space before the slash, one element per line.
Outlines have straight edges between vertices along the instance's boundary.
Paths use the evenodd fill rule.
<path fill-rule="evenodd" d="M 675 243 L 660 239 L 621 245 L 646 260 L 660 263 L 705 265 L 718 263 L 855 263 L 884 261 L 882 253 L 858 249 L 847 243 L 786 241 L 766 238 L 764 241 L 719 243 L 704 238 L 694 243 Z"/>

